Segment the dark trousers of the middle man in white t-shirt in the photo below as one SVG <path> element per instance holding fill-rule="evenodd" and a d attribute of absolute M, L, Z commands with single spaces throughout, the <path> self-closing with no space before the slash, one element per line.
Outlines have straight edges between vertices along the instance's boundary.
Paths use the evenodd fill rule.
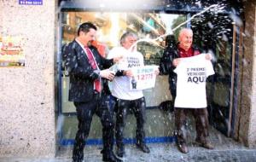
<path fill-rule="evenodd" d="M 123 137 L 124 137 L 124 128 L 125 128 L 125 119 L 129 110 L 134 113 L 137 119 L 137 129 L 136 129 L 136 139 L 137 144 L 144 143 L 145 131 L 145 107 L 146 102 L 145 98 L 139 98 L 137 100 L 117 100 L 117 113 L 116 113 L 116 127 L 115 127 L 115 138 L 117 147 L 124 146 Z"/>

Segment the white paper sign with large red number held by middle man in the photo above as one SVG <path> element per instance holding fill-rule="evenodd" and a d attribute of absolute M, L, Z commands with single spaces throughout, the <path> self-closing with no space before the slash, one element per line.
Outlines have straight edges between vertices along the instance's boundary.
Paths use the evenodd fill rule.
<path fill-rule="evenodd" d="M 134 67 L 134 76 L 130 78 L 130 90 L 146 90 L 154 88 L 155 70 L 157 66 Z"/>

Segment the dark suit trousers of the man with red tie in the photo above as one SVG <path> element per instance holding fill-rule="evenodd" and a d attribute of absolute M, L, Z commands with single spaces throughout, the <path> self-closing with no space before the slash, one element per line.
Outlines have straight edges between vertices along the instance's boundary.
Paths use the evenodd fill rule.
<path fill-rule="evenodd" d="M 73 146 L 73 161 L 80 162 L 84 159 L 85 140 L 89 135 L 92 116 L 96 115 L 102 122 L 103 152 L 109 153 L 113 150 L 113 111 L 109 110 L 109 96 L 95 95 L 89 102 L 74 102 L 79 119 L 79 130 L 75 137 Z"/>

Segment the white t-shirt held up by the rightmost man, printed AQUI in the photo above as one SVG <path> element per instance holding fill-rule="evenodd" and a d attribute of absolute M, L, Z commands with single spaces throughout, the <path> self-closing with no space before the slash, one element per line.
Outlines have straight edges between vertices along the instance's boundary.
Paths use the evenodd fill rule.
<path fill-rule="evenodd" d="M 174 72 L 177 73 L 177 96 L 174 107 L 207 107 L 206 80 L 214 74 L 212 62 L 205 54 L 181 58 Z"/>

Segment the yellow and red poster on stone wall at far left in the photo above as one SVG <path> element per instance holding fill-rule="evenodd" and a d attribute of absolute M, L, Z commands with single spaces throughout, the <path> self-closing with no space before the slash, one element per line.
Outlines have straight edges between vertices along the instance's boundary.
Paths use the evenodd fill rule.
<path fill-rule="evenodd" d="M 23 41 L 19 36 L 0 35 L 0 67 L 24 67 Z"/>

